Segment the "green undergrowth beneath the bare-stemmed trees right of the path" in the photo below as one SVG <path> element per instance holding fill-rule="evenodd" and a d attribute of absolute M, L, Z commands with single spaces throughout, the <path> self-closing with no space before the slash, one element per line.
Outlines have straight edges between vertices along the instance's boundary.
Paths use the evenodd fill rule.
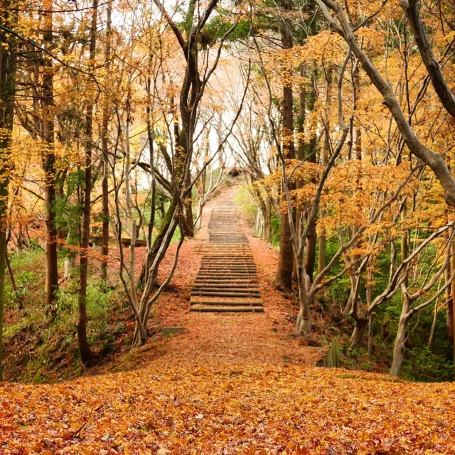
<path fill-rule="evenodd" d="M 239 186 L 235 196 L 236 205 L 242 210 L 248 223 L 255 227 L 257 205 L 254 203 L 246 186 Z M 279 248 L 280 226 L 279 217 L 272 217 L 272 245 Z M 340 247 L 337 237 L 329 238 L 326 242 L 326 264 L 336 254 Z M 400 245 L 397 245 L 400 251 Z M 316 267 L 319 255 L 316 244 Z M 397 257 L 397 260 L 400 258 Z M 340 273 L 346 264 L 343 260 L 333 264 L 329 276 Z M 373 274 L 372 299 L 386 289 L 390 273 L 390 251 L 385 250 L 378 257 L 378 264 Z M 363 280 L 360 286 L 360 299 L 365 302 L 367 289 Z M 349 341 L 353 331 L 353 319 L 343 314 L 350 294 L 350 279 L 343 274 L 329 287 L 323 289 L 313 304 L 314 341 L 319 346 L 328 346 L 333 338 L 340 340 L 341 367 L 350 370 L 373 371 L 388 373 L 392 365 L 392 355 L 397 333 L 398 322 L 402 310 L 400 292 L 390 301 L 375 309 L 373 315 L 372 355 L 368 356 L 368 328 L 361 346 L 351 348 Z M 297 301 L 296 292 L 291 296 Z M 423 297 L 422 297 L 423 299 Z M 417 302 L 416 304 L 419 304 Z M 296 308 L 298 305 L 296 304 Z M 295 315 L 293 315 L 295 316 Z M 402 363 L 401 378 L 412 381 L 439 382 L 455 380 L 454 349 L 446 336 L 446 309 L 439 311 L 434 328 L 434 338 L 429 346 L 429 333 L 434 322 L 434 305 L 427 306 L 415 315 L 407 328 L 405 358 Z"/>

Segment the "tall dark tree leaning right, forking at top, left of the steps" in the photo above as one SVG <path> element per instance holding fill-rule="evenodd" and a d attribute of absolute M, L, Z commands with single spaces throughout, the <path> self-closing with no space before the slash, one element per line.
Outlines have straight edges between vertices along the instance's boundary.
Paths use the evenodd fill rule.
<path fill-rule="evenodd" d="M 146 255 L 146 271 L 144 273 L 146 282 L 144 284 L 141 301 L 139 302 L 137 309 L 134 309 L 136 329 L 134 331 L 133 346 L 141 346 L 145 343 L 148 336 L 147 321 L 149 320 L 151 305 L 158 299 L 161 291 L 163 291 L 164 286 L 169 282 L 173 271 L 175 270 L 178 251 L 184 237 L 182 223 L 183 205 L 184 201 L 191 194 L 191 188 L 194 183 L 193 181 L 188 183 L 188 174 L 190 174 L 191 160 L 193 157 L 194 135 L 198 120 L 200 100 L 203 97 L 210 76 L 218 65 L 223 43 L 236 27 L 236 23 L 233 23 L 232 26 L 228 26 L 228 30 L 221 29 L 221 31 L 215 31 L 215 35 L 210 39 L 210 41 L 213 40 L 213 43 L 219 41 L 218 50 L 215 52 L 215 59 L 213 63 L 210 63 L 208 68 L 205 68 L 205 70 L 201 72 L 200 66 L 198 65 L 200 36 L 203 35 L 203 28 L 208 23 L 210 15 L 215 10 L 218 0 L 210 0 L 205 6 L 205 9 L 200 8 L 201 5 L 198 0 L 191 0 L 188 4 L 183 31 L 181 26 L 178 26 L 168 14 L 164 4 L 161 4 L 159 0 L 154 0 L 154 3 L 159 8 L 159 11 L 161 11 L 169 28 L 171 28 L 185 58 L 185 74 L 179 99 L 179 112 L 182 127 L 176 133 L 178 141 L 171 164 L 171 201 L 161 223 L 160 232 L 155 237 L 153 245 L 147 251 Z M 208 31 L 208 33 L 210 33 L 210 31 Z M 220 33 L 223 34 L 220 35 Z M 177 226 L 180 229 L 181 242 L 178 244 L 174 266 L 171 269 L 171 274 L 168 275 L 168 279 L 166 279 L 164 284 L 159 287 L 159 290 L 151 296 L 156 284 L 159 264 L 161 264 L 164 254 L 168 249 L 168 245 L 171 242 L 173 232 L 175 232 Z"/>

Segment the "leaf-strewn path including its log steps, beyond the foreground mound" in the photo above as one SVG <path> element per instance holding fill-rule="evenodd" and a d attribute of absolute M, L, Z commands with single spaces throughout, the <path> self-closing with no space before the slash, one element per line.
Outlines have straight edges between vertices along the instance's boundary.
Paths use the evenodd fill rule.
<path fill-rule="evenodd" d="M 277 251 L 255 237 L 245 215 L 235 209 L 237 191 L 238 186 L 232 186 L 213 198 L 204 208 L 196 238 L 183 244 L 171 289 L 161 297 L 151 324 L 159 321 L 161 326 L 186 331 L 159 344 L 159 355 L 193 365 L 272 359 L 279 365 L 314 365 L 321 357 L 321 348 L 305 346 L 296 337 L 298 306 L 274 284 Z M 172 267 L 174 250 L 172 245 L 161 267 L 161 280 Z M 214 287 L 206 291 L 209 280 Z M 240 287 L 240 282 L 246 288 Z M 209 293 L 215 295 L 200 295 Z M 208 305 L 207 301 L 217 304 Z M 195 307 L 223 310 L 194 311 Z M 239 307 L 244 311 L 238 311 Z"/>

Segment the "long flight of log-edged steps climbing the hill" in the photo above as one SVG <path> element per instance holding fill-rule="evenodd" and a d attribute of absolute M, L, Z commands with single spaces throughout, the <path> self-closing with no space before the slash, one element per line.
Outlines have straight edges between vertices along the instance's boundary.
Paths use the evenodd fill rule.
<path fill-rule="evenodd" d="M 199 312 L 262 313 L 256 264 L 247 236 L 237 226 L 234 203 L 220 201 L 208 224 L 208 243 L 191 289 L 191 309 Z"/>

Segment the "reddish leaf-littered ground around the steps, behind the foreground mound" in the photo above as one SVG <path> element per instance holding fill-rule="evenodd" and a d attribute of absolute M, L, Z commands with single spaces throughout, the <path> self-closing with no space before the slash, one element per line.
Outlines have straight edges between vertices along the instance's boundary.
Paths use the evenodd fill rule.
<path fill-rule="evenodd" d="M 230 188 L 232 198 L 235 188 Z M 154 307 L 155 318 L 150 328 L 158 331 L 161 327 L 186 328 L 184 333 L 170 338 L 157 336 L 150 346 L 137 350 L 139 358 L 134 363 L 146 363 L 149 352 L 172 358 L 181 357 L 193 363 L 213 361 L 236 363 L 271 361 L 277 365 L 293 363 L 313 365 L 321 358 L 321 348 L 309 348 L 295 336 L 294 320 L 298 306 L 291 302 L 274 286 L 278 253 L 267 242 L 253 235 L 252 229 L 239 212 L 238 220 L 247 234 L 252 254 L 257 264 L 259 289 L 264 301 L 263 314 L 210 314 L 191 313 L 190 291 L 200 265 L 200 247 L 208 240 L 207 225 L 210 211 L 217 203 L 213 199 L 203 211 L 203 228 L 194 239 L 187 239 L 181 247 L 178 266 L 171 280 L 170 289 L 164 292 Z M 166 279 L 175 257 L 176 245 L 171 245 L 160 269 L 159 280 Z M 138 269 L 139 273 L 139 269 Z M 153 346 L 153 347 L 152 347 Z M 135 357 L 134 352 L 127 357 Z M 123 364 L 119 358 L 116 363 Z M 122 368 L 107 365 L 109 370 Z M 100 373 L 100 371 L 97 371 Z"/>

